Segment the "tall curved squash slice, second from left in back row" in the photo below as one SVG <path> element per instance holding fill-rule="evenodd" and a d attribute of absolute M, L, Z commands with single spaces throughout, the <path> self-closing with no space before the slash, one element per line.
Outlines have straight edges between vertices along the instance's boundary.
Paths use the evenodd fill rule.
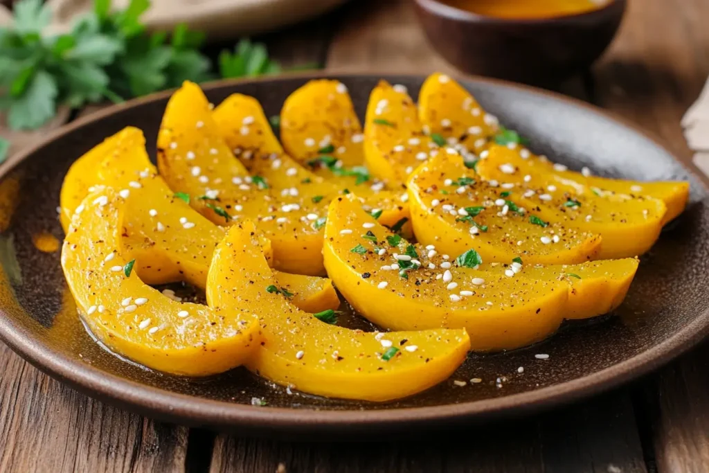
<path fill-rule="evenodd" d="M 316 194 L 307 187 L 286 196 L 269 189 L 263 179 L 250 177 L 225 144 L 196 84 L 185 82 L 170 98 L 157 148 L 160 175 L 173 191 L 189 194 L 190 205 L 204 216 L 219 225 L 249 218 L 271 240 L 275 268 L 297 274 L 325 273 L 318 222 L 325 217 L 327 202 L 314 201 Z M 199 196 L 218 198 L 218 205 Z"/>

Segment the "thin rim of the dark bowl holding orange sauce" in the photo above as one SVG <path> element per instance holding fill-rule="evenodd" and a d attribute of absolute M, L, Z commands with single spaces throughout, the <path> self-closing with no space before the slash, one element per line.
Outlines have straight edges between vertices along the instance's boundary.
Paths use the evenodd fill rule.
<path fill-rule="evenodd" d="M 442 3 L 440 0 L 414 0 L 421 9 L 431 13 L 432 15 L 446 18 L 452 21 L 464 21 L 466 23 L 487 23 L 491 25 L 545 25 L 549 23 L 561 23 L 565 21 L 596 19 L 600 20 L 608 10 L 620 8 L 621 15 L 625 11 L 627 0 L 608 0 L 608 3 L 601 8 L 581 13 L 570 13 L 561 16 L 549 16 L 543 18 L 501 18 L 498 16 L 484 15 L 483 13 L 474 13 L 472 11 L 462 10 L 455 6 L 450 6 Z M 618 6 L 620 5 L 620 7 Z M 598 17 L 598 18 L 596 18 Z"/>

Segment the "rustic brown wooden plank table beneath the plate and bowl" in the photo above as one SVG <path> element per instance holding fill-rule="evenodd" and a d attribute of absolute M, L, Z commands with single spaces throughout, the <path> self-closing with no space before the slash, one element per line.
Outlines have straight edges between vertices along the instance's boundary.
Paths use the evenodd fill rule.
<path fill-rule="evenodd" d="M 630 1 L 608 54 L 561 91 L 657 133 L 689 163 L 679 121 L 709 75 L 707 18 L 708 1 Z M 284 65 L 453 72 L 406 0 L 353 1 L 258 39 Z M 0 131 L 15 150 L 42 133 Z M 538 416 L 418 442 L 337 445 L 151 421 L 72 391 L 0 345 L 0 472 L 708 472 L 708 359 L 705 343 L 640 382 Z"/>

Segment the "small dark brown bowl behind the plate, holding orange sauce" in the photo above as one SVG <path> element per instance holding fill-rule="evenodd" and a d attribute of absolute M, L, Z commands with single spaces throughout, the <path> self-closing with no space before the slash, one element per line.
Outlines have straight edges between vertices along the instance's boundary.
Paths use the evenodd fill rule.
<path fill-rule="evenodd" d="M 601 56 L 618 31 L 626 0 L 579 15 L 530 20 L 479 15 L 437 0 L 414 3 L 431 44 L 463 72 L 553 84 Z"/>

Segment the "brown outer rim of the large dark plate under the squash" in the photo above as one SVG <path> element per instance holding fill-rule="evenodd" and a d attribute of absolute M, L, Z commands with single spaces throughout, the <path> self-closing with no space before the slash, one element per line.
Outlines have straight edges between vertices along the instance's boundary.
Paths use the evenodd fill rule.
<path fill-rule="evenodd" d="M 233 87 L 252 82 L 279 82 L 289 79 L 322 79 L 337 77 L 411 77 L 423 79 L 423 74 L 398 74 L 396 72 L 346 72 L 340 69 L 328 69 L 319 72 L 295 72 L 281 74 L 277 77 L 259 77 L 248 79 L 223 79 L 202 84 L 204 91 Z M 537 89 L 524 84 L 516 84 L 501 79 L 489 79 L 474 75 L 460 75 L 462 84 L 477 82 L 497 87 L 521 89 L 532 94 L 547 96 L 557 101 L 565 101 L 576 107 L 585 108 L 620 123 L 621 126 L 630 128 L 639 135 L 665 150 L 679 163 L 689 177 L 693 177 L 703 189 L 709 193 L 707 179 L 700 177 L 696 172 L 685 165 L 667 150 L 652 133 L 640 129 L 623 117 L 615 113 L 604 111 L 601 108 L 587 104 L 573 97 L 564 96 L 557 92 Z M 140 97 L 123 104 L 109 106 L 104 110 L 96 111 L 68 123 L 57 130 L 48 133 L 43 140 L 35 145 L 13 155 L 9 160 L 0 165 L 0 180 L 15 169 L 19 164 L 28 160 L 38 150 L 50 144 L 53 140 L 69 133 L 74 133 L 88 123 L 101 121 L 119 111 L 135 108 L 143 104 L 166 99 L 174 89 L 161 91 L 156 94 Z M 709 199 L 707 199 L 709 200 Z M 179 421 L 186 425 L 208 425 L 216 428 L 234 428 L 236 426 L 251 429 L 253 432 L 269 433 L 303 433 L 305 431 L 323 433 L 340 433 L 342 436 L 368 432 L 372 435 L 372 427 L 378 432 L 403 430 L 404 428 L 420 427 L 438 423 L 440 425 L 456 425 L 470 422 L 473 418 L 501 417 L 513 413 L 549 408 L 560 404 L 568 404 L 591 394 L 607 391 L 615 386 L 629 382 L 631 379 L 647 374 L 675 357 L 697 345 L 709 333 L 709 309 L 699 313 L 693 321 L 688 323 L 679 332 L 672 335 L 658 345 L 650 347 L 635 357 L 612 365 L 598 372 L 593 372 L 584 377 L 571 379 L 568 382 L 546 386 L 542 389 L 528 391 L 520 394 L 511 394 L 493 399 L 464 402 L 461 404 L 445 404 L 442 406 L 424 406 L 408 408 L 381 408 L 367 411 L 362 410 L 322 410 L 322 409 L 294 409 L 269 406 L 247 406 L 245 404 L 232 404 L 212 399 L 201 399 L 188 394 L 178 394 L 166 391 L 159 387 L 147 386 L 123 377 L 116 376 L 101 369 L 77 362 L 70 357 L 53 351 L 44 345 L 38 338 L 27 333 L 27 330 L 18 323 L 13 323 L 5 309 L 0 307 L 0 340 L 4 341 L 11 349 L 21 355 L 32 365 L 70 384 L 75 389 L 94 398 L 108 401 L 109 403 L 137 411 L 153 418 L 168 421 Z M 347 426 L 347 432 L 340 430 Z M 367 430 L 370 429 L 370 430 Z M 374 434 L 376 435 L 376 434 Z"/>

